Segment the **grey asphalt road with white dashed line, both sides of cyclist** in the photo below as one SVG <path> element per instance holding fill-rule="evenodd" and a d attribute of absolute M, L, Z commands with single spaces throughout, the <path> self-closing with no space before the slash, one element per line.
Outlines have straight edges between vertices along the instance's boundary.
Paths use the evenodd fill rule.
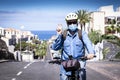
<path fill-rule="evenodd" d="M 119 80 L 120 62 L 88 62 L 87 80 Z M 59 66 L 47 61 L 0 63 L 0 80 L 59 80 Z"/>

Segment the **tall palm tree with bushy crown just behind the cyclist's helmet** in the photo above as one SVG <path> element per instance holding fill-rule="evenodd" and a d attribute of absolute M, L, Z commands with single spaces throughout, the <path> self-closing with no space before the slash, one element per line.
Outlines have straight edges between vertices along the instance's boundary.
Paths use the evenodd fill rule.
<path fill-rule="evenodd" d="M 78 15 L 78 19 L 80 20 L 79 24 L 80 24 L 81 30 L 83 29 L 83 27 L 85 30 L 86 23 L 90 22 L 91 20 L 91 17 L 90 17 L 91 13 L 88 12 L 87 10 L 78 10 L 76 14 Z"/>

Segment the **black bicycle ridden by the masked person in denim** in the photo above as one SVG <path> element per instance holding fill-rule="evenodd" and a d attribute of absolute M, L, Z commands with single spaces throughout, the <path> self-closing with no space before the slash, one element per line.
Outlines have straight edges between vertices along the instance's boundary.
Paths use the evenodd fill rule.
<path fill-rule="evenodd" d="M 96 57 L 96 56 L 94 56 L 94 57 Z M 79 58 L 79 59 L 80 59 L 80 60 L 88 60 L 87 56 L 81 57 L 81 58 Z M 62 61 L 63 61 L 63 60 L 61 60 L 60 58 L 56 58 L 55 60 L 49 61 L 49 63 L 59 64 L 59 65 L 60 65 Z M 79 68 L 78 70 L 80 70 L 80 68 Z M 77 71 L 77 70 L 76 70 L 76 71 Z M 80 80 L 80 76 L 75 73 L 76 71 L 71 71 L 71 75 L 67 75 L 67 79 L 68 79 L 68 80 Z M 78 74 L 79 74 L 79 73 L 78 73 Z"/>

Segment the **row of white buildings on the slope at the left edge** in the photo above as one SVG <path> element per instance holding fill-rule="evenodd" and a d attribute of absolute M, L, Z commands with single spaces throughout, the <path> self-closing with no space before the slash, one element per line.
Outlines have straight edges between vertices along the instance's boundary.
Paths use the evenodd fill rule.
<path fill-rule="evenodd" d="M 31 37 L 34 37 L 34 34 L 32 34 L 30 31 L 21 31 L 14 28 L 2 27 L 0 27 L 0 35 L 4 36 L 1 37 L 1 39 L 6 42 L 6 45 L 8 46 L 10 52 L 14 51 L 14 46 L 11 45 L 14 44 L 14 42 L 19 43 L 19 40 L 21 38 L 27 38 L 28 42 L 31 42 Z"/>

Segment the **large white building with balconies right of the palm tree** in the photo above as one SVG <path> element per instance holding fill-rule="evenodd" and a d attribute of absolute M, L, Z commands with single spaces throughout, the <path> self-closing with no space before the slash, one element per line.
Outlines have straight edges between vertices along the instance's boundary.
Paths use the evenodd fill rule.
<path fill-rule="evenodd" d="M 91 17 L 90 28 L 100 30 L 101 33 L 104 34 L 105 27 L 110 26 L 113 20 L 116 21 L 115 26 L 120 24 L 120 7 L 114 11 L 113 5 L 102 6 L 98 11 L 92 12 Z"/>

